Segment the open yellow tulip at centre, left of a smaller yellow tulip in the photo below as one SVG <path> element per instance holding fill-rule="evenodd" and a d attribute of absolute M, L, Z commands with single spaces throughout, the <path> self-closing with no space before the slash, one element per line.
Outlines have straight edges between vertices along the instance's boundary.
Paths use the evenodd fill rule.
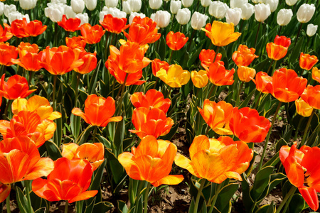
<path fill-rule="evenodd" d="M 180 65 L 171 65 L 168 71 L 161 68 L 159 72 L 156 72 L 156 77 L 159 77 L 170 87 L 176 88 L 188 83 L 190 72 L 183 70 Z"/>

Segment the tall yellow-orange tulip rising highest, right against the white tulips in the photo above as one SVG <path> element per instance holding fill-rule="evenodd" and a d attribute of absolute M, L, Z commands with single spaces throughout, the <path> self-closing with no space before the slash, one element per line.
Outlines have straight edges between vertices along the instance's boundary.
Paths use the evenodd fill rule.
<path fill-rule="evenodd" d="M 239 38 L 241 33 L 236 32 L 233 23 L 223 23 L 213 21 L 212 26 L 207 24 L 206 29 L 203 29 L 206 35 L 211 39 L 213 45 L 223 47 L 234 42 Z"/>

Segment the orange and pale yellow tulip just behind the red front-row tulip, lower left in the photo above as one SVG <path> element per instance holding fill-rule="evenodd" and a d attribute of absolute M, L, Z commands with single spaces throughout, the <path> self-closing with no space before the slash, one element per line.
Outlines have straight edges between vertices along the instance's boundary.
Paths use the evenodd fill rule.
<path fill-rule="evenodd" d="M 63 144 L 63 158 L 82 159 L 91 163 L 92 169 L 96 170 L 105 161 L 105 146 L 102 143 L 77 143 Z"/>

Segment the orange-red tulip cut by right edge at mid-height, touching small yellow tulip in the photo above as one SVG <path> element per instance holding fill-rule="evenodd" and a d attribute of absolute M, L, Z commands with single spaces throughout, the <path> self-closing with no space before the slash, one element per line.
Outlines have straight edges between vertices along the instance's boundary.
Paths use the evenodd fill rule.
<path fill-rule="evenodd" d="M 320 109 L 320 85 L 308 85 L 301 95 L 301 98 L 314 109 Z"/>

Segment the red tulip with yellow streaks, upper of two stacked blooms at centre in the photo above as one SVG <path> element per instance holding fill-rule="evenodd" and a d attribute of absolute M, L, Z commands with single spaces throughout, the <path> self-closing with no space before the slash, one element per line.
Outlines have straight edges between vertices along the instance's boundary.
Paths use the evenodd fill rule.
<path fill-rule="evenodd" d="M 134 107 L 145 107 L 147 109 L 158 108 L 166 113 L 171 105 L 170 99 L 165 99 L 164 94 L 156 89 L 150 89 L 144 94 L 143 92 L 134 92 L 130 97 Z"/>

